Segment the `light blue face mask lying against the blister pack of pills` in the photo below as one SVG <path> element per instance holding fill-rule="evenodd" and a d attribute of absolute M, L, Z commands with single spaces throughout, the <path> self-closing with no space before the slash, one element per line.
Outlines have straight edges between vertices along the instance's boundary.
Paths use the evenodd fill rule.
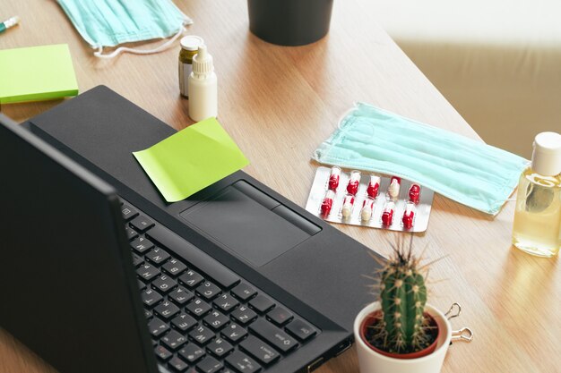
<path fill-rule="evenodd" d="M 505 150 L 362 103 L 343 117 L 313 159 L 401 176 L 493 215 L 529 164 Z"/>

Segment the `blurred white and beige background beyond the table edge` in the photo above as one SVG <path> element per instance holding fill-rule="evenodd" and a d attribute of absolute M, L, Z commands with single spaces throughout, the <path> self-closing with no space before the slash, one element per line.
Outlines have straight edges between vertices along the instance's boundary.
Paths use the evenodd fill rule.
<path fill-rule="evenodd" d="M 488 144 L 561 132 L 561 2 L 373 0 L 375 18 Z"/>

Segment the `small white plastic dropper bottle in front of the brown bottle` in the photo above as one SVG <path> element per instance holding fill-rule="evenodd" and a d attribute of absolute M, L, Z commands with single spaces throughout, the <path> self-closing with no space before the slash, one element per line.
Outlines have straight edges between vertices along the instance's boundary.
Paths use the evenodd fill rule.
<path fill-rule="evenodd" d="M 189 75 L 189 116 L 200 122 L 218 116 L 218 87 L 212 56 L 206 46 L 199 47 L 193 57 L 193 72 Z"/>

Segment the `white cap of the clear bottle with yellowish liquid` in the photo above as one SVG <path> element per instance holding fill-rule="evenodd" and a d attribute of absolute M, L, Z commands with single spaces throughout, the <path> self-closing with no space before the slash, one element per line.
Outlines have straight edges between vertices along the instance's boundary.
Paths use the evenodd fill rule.
<path fill-rule="evenodd" d="M 544 176 L 561 174 L 561 135 L 556 132 L 538 133 L 531 155 L 531 169 Z"/>

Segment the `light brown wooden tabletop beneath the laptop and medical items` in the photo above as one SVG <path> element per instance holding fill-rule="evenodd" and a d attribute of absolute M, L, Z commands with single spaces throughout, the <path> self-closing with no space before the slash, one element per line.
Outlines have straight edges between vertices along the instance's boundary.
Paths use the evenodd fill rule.
<path fill-rule="evenodd" d="M 380 29 L 367 1 L 335 1 L 329 35 L 306 47 L 278 47 L 256 38 L 242 0 L 177 4 L 194 18 L 188 33 L 202 36 L 214 56 L 220 123 L 251 160 L 246 172 L 300 206 L 317 166 L 310 161 L 313 150 L 355 100 L 479 139 Z M 22 24 L 0 35 L 0 48 L 67 43 L 81 91 L 105 84 L 177 129 L 192 123 L 178 93 L 178 46 L 159 55 L 99 60 L 55 1 L 3 0 L 0 18 L 14 14 Z M 4 105 L 2 111 L 23 121 L 59 102 Z M 419 248 L 428 244 L 427 258 L 444 257 L 431 270 L 430 302 L 440 309 L 460 302 L 462 316 L 453 326 L 475 331 L 472 343 L 453 344 L 443 372 L 561 369 L 559 260 L 514 250 L 513 214 L 512 202 L 491 219 L 436 196 L 427 233 L 415 239 Z M 394 233 L 336 226 L 372 250 L 389 252 L 385 240 Z M 0 332 L 0 372 L 53 371 Z M 345 352 L 318 372 L 358 372 L 356 352 Z"/>

